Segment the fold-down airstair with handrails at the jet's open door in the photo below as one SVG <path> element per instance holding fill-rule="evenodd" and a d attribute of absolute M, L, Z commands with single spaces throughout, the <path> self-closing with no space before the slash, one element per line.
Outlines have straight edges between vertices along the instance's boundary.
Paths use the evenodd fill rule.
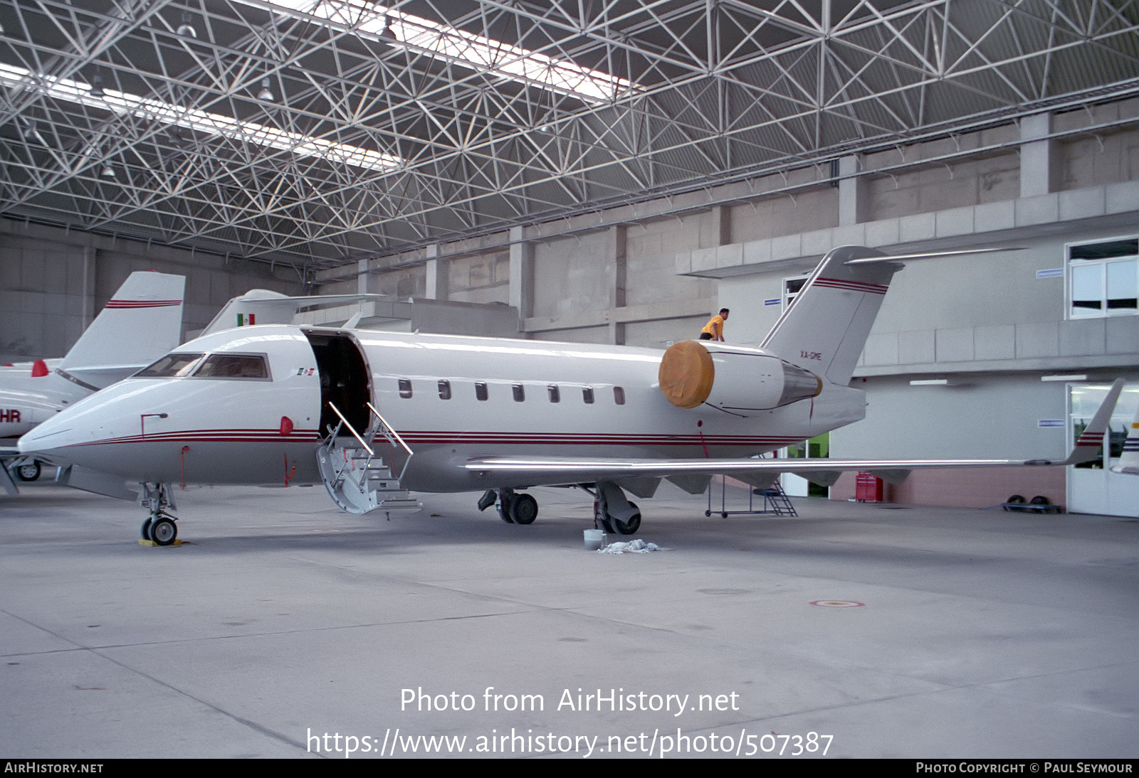
<path fill-rule="evenodd" d="M 317 448 L 317 466 L 325 489 L 341 510 L 355 515 L 384 511 L 391 518 L 393 512 L 418 511 L 423 505 L 400 486 L 399 477 L 388 464 L 402 461 L 402 473 L 412 456 L 411 449 L 371 403 L 367 405 L 371 423 L 366 434 L 361 436 L 339 408 L 328 404 L 341 421 L 335 429 L 329 429 L 328 437 Z M 376 454 L 377 433 L 390 444 L 388 462 Z"/>

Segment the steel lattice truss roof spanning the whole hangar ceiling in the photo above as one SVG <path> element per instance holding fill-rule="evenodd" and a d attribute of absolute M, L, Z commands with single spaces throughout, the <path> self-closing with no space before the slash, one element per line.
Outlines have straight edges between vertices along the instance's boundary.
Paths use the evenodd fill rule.
<path fill-rule="evenodd" d="M 0 8 L 0 216 L 310 273 L 1139 93 L 1139 0 L 316 2 Z"/>

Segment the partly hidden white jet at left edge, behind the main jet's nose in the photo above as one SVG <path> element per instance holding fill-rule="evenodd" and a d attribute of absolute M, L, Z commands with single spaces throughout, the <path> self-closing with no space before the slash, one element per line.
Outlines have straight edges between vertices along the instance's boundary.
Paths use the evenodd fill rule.
<path fill-rule="evenodd" d="M 35 457 L 21 456 L 16 438 L 91 392 L 126 378 L 182 340 L 186 279 L 131 273 L 62 359 L 0 367 L 0 481 L 17 494 L 10 473 L 24 481 L 40 475 Z"/>

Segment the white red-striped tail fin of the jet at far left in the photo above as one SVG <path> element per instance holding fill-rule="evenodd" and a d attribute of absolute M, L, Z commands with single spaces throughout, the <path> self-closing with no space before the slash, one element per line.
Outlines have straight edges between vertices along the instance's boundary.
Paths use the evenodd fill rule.
<path fill-rule="evenodd" d="M 182 342 L 186 278 L 131 273 L 56 369 L 103 389 L 146 367 Z"/>

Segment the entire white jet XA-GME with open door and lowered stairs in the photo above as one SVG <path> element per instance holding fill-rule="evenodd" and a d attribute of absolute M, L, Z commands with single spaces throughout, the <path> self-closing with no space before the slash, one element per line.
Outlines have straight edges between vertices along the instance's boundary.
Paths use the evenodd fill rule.
<path fill-rule="evenodd" d="M 931 255 L 921 255 L 931 256 Z M 528 524 L 521 490 L 577 486 L 598 522 L 640 525 L 625 493 L 661 479 L 700 494 L 713 474 L 833 482 L 868 470 L 1066 465 L 1093 458 L 1122 381 L 1065 460 L 757 460 L 863 417 L 847 386 L 900 259 L 830 251 L 760 348 L 682 341 L 666 351 L 366 330 L 246 326 L 198 338 L 21 439 L 60 480 L 133 498 L 144 537 L 177 535 L 174 483 L 316 483 L 352 513 L 416 491 L 483 491 Z"/>

